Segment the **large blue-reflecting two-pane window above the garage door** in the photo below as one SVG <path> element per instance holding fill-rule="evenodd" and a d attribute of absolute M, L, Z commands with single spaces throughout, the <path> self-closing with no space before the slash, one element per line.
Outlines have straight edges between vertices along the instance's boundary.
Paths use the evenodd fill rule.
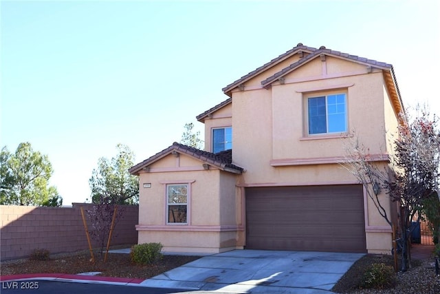
<path fill-rule="evenodd" d="M 309 96 L 309 135 L 347 132 L 347 95 Z"/>

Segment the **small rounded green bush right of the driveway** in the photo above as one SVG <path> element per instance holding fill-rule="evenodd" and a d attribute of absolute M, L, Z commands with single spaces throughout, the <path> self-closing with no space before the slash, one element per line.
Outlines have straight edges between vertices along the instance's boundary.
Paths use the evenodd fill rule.
<path fill-rule="evenodd" d="M 362 288 L 388 288 L 395 284 L 393 266 L 384 263 L 371 264 L 362 277 Z"/>

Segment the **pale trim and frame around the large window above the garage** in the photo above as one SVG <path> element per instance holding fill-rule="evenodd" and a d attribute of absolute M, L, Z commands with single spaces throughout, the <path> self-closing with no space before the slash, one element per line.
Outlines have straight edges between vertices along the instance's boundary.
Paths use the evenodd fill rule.
<path fill-rule="evenodd" d="M 344 94 L 345 95 L 345 130 L 342 132 L 328 132 L 328 106 L 327 106 L 327 99 L 330 95 L 338 95 L 338 94 Z M 325 133 L 318 133 L 318 134 L 310 134 L 309 133 L 309 98 L 318 98 L 318 97 L 325 97 L 325 117 L 327 121 L 326 125 L 326 132 Z M 340 137 L 340 134 L 348 134 L 349 132 L 349 99 L 348 99 L 348 91 L 347 90 L 329 90 L 329 91 L 320 91 L 320 92 L 309 92 L 307 94 L 303 94 L 303 114 L 304 114 L 304 136 L 303 138 L 317 138 L 317 137 Z"/>

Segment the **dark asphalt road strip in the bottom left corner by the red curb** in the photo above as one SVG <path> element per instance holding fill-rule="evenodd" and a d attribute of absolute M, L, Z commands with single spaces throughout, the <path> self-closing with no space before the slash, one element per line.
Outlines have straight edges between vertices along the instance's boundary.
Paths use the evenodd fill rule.
<path fill-rule="evenodd" d="M 1 282 L 0 293 L 27 293 L 27 294 L 78 294 L 78 293 L 96 293 L 96 294 L 165 294 L 191 291 L 190 289 L 171 289 L 171 288 L 150 288 L 142 286 L 120 286 L 109 284 L 90 284 L 90 283 L 71 283 L 54 282 L 43 280 L 26 280 L 15 282 Z"/>

